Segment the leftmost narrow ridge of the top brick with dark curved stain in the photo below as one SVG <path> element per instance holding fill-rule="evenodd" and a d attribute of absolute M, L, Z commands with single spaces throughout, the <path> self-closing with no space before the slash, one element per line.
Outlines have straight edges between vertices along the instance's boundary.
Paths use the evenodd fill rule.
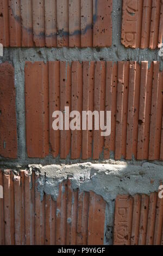
<path fill-rule="evenodd" d="M 9 1 L 1 0 L 1 15 L 0 15 L 0 43 L 4 47 L 10 45 L 10 33 L 9 33 Z"/>

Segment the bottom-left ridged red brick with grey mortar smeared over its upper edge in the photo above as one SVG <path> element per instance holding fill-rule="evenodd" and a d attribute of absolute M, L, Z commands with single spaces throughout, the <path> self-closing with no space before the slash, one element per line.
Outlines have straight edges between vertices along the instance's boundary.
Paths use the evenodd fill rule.
<path fill-rule="evenodd" d="M 0 171 L 0 245 L 103 245 L 105 201 L 93 192 L 59 185 L 59 195 L 40 197 L 39 176 Z"/>

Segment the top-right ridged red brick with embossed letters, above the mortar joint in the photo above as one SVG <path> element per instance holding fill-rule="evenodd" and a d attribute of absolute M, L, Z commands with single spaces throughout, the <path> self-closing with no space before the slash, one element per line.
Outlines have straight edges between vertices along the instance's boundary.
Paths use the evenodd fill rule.
<path fill-rule="evenodd" d="M 131 48 L 161 47 L 162 0 L 123 0 L 122 44 Z"/>

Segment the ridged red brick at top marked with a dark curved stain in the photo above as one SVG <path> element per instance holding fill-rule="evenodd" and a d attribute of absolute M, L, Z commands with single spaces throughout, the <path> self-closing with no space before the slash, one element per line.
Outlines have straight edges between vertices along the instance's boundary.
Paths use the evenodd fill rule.
<path fill-rule="evenodd" d="M 112 0 L 1 0 L 0 7 L 3 46 L 111 46 Z"/>

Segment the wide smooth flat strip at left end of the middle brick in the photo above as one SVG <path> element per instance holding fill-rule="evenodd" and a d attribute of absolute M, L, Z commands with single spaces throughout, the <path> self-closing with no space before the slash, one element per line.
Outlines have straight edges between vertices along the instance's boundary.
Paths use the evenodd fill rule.
<path fill-rule="evenodd" d="M 26 80 L 26 137 L 28 157 L 49 154 L 48 64 L 27 62 Z"/>

